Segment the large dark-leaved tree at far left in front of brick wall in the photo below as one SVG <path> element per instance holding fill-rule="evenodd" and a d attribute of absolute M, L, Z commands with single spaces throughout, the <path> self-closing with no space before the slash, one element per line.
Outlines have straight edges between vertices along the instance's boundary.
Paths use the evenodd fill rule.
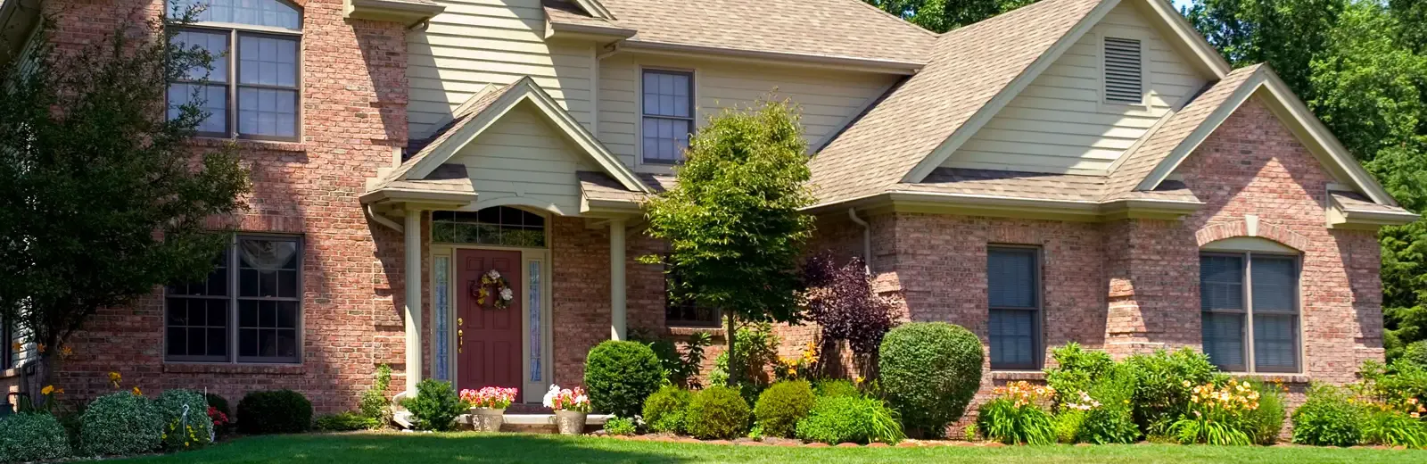
<path fill-rule="evenodd" d="M 173 33 L 154 20 L 84 46 L 41 34 L 0 66 L 0 320 L 33 350 L 31 401 L 96 311 L 205 276 L 228 237 L 207 220 L 244 207 L 235 153 L 188 143 L 200 96 L 168 106 L 183 94 L 168 83 L 201 81 L 213 60 Z"/>

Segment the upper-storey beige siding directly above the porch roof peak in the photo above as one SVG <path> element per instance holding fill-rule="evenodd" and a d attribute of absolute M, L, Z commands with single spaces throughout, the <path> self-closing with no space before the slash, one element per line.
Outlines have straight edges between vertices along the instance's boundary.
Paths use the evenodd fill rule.
<path fill-rule="evenodd" d="M 445 11 L 407 34 L 411 137 L 427 137 L 487 84 L 531 76 L 592 128 L 594 43 L 544 39 L 539 0 L 437 0 Z"/>

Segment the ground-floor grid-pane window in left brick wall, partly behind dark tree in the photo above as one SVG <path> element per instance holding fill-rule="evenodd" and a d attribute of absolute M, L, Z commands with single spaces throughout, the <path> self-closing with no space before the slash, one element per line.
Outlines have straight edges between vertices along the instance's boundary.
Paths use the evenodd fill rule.
<path fill-rule="evenodd" d="M 166 360 L 301 361 L 301 250 L 297 237 L 238 236 L 207 278 L 168 286 Z"/>

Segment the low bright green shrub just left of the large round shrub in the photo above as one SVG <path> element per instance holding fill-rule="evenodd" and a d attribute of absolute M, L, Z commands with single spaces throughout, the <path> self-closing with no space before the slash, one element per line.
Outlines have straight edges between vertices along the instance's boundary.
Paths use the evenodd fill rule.
<path fill-rule="evenodd" d="M 796 431 L 798 438 L 826 444 L 895 444 L 906 438 L 896 413 L 886 403 L 859 395 L 818 398 L 808 417 L 798 421 Z"/>

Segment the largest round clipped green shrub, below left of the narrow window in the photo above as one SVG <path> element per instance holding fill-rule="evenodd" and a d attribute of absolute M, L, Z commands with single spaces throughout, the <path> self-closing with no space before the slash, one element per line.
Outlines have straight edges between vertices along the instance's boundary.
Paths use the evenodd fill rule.
<path fill-rule="evenodd" d="M 903 424 L 942 435 L 966 413 L 980 387 L 982 344 L 946 323 L 909 323 L 888 331 L 878 368 L 882 388 Z"/>

